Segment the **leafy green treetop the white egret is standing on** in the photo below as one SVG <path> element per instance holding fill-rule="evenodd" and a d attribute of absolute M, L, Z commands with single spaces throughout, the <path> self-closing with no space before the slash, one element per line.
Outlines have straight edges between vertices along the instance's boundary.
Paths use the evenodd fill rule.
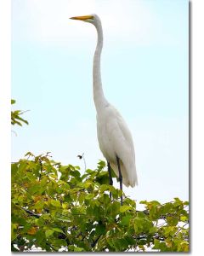
<path fill-rule="evenodd" d="M 121 206 L 122 191 L 109 185 L 106 169 L 99 160 L 82 173 L 49 153 L 12 163 L 12 251 L 188 252 L 189 203 L 141 201 L 138 211 L 123 195 Z"/>

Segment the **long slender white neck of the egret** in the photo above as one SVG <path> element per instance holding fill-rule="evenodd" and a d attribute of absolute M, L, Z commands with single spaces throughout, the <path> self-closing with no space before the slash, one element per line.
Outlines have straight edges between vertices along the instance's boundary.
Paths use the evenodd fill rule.
<path fill-rule="evenodd" d="M 103 47 L 103 30 L 99 23 L 96 26 L 98 33 L 98 42 L 94 53 L 94 65 L 93 65 L 93 91 L 94 91 L 94 103 L 97 113 L 99 110 L 107 104 L 102 88 L 102 81 L 100 75 L 100 55 Z"/>

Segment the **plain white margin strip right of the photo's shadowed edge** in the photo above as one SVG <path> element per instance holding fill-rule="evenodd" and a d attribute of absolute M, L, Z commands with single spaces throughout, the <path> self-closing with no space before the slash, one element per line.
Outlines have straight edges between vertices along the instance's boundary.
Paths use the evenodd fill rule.
<path fill-rule="evenodd" d="M 203 251 L 204 223 L 203 212 L 203 188 L 204 188 L 204 37 L 203 37 L 203 13 L 204 1 L 191 1 L 192 8 L 192 83 L 191 83 L 191 249 L 195 255 Z"/>

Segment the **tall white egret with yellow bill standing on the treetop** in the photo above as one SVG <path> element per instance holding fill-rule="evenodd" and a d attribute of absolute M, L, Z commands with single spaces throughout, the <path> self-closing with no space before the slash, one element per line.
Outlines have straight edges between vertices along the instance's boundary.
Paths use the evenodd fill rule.
<path fill-rule="evenodd" d="M 103 30 L 98 15 L 71 17 L 93 24 L 98 33 L 98 42 L 94 53 L 93 90 L 94 104 L 97 112 L 97 135 L 99 148 L 108 163 L 110 184 L 112 185 L 111 168 L 119 177 L 120 189 L 138 184 L 135 167 L 133 138 L 122 119 L 122 115 L 105 98 L 100 75 L 100 55 L 103 47 Z M 111 193 L 110 193 L 111 197 Z M 121 197 L 122 204 L 122 197 Z"/>

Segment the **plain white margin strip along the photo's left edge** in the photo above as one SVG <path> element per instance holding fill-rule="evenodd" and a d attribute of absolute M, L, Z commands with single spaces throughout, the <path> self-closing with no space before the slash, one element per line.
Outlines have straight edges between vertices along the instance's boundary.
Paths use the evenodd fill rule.
<path fill-rule="evenodd" d="M 0 244 L 10 254 L 10 1 L 0 1 Z"/>

